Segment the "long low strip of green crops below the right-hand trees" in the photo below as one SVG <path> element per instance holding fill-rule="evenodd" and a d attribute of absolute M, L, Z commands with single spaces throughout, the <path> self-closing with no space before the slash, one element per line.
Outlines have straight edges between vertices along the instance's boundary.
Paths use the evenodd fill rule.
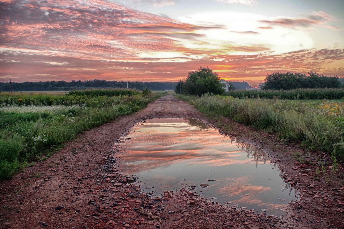
<path fill-rule="evenodd" d="M 239 99 L 342 99 L 344 89 L 234 90 L 225 95 Z"/>

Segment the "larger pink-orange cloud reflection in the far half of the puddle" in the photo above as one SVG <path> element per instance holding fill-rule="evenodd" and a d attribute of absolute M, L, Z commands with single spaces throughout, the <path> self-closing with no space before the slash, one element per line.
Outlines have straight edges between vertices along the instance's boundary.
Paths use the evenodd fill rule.
<path fill-rule="evenodd" d="M 242 155 L 238 154 L 241 151 L 246 151 L 248 157 L 257 162 L 264 158 L 256 147 L 245 142 L 239 142 L 235 147 L 232 138 L 225 138 L 217 130 L 192 118 L 159 119 L 158 122 L 150 119 L 134 128 L 127 138 L 131 139 L 121 144 L 125 153 L 119 156 L 126 162 L 123 169 L 132 173 L 167 167 L 183 160 L 189 160 L 189 164 L 209 166 L 254 163 L 243 160 Z M 140 161 L 140 167 L 135 167 L 138 163 L 133 161 Z"/>

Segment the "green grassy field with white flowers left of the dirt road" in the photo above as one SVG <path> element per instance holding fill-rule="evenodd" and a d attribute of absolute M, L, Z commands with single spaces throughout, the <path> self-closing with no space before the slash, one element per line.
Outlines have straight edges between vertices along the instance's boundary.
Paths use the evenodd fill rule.
<path fill-rule="evenodd" d="M 139 111 L 161 95 L 135 90 L 0 94 L 0 179 L 84 130 Z"/>

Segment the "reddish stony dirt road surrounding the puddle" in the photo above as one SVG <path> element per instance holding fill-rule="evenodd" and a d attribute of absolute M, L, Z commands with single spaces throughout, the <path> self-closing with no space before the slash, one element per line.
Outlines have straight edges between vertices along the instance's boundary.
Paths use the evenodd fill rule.
<path fill-rule="evenodd" d="M 207 202 L 190 190 L 151 199 L 118 171 L 114 144 L 137 122 L 198 118 L 260 147 L 300 199 L 274 217 Z M 299 143 L 282 142 L 227 118 L 206 117 L 165 96 L 141 112 L 86 131 L 45 161 L 0 184 L 0 228 L 344 228 L 343 167 Z M 323 164 L 323 169 L 320 167 Z M 321 172 L 316 171 L 320 168 Z"/>

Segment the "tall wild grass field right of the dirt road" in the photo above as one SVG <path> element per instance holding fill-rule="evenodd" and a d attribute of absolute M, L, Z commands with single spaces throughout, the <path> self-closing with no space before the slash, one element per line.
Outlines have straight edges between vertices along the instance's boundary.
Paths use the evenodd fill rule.
<path fill-rule="evenodd" d="M 198 110 L 300 140 L 305 147 L 344 159 L 344 102 L 331 100 L 236 99 L 176 95 Z"/>

